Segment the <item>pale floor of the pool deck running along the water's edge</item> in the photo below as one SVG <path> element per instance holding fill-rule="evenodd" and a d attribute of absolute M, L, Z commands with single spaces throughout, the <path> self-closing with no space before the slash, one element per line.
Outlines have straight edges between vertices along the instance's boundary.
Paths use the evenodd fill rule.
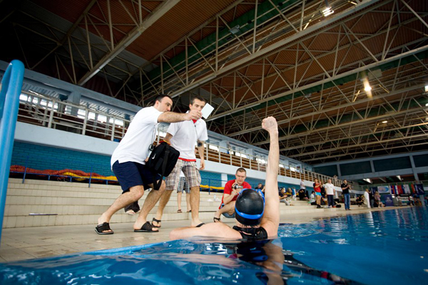
<path fill-rule="evenodd" d="M 354 206 L 351 209 L 351 211 L 345 211 L 342 208 L 322 209 L 320 212 L 305 214 L 282 214 L 280 222 L 302 224 L 311 222 L 314 219 L 397 209 L 397 207 L 367 209 Z M 222 220 L 231 226 L 235 223 L 235 219 L 225 219 L 223 217 Z M 203 222 L 213 221 L 203 220 Z M 133 223 L 120 223 L 111 224 L 111 228 L 115 232 L 114 234 L 98 235 L 94 231 L 95 226 L 96 224 L 3 229 L 1 234 L 0 262 L 167 242 L 172 229 L 176 227 L 188 227 L 190 226 L 190 221 L 163 222 L 162 228 L 158 233 L 136 233 L 133 232 Z"/>

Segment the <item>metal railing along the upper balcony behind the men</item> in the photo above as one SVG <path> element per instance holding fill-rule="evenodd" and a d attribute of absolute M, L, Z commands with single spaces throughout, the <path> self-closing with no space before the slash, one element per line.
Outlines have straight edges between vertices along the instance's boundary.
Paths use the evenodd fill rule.
<path fill-rule="evenodd" d="M 68 132 L 89 135 L 106 140 L 119 141 L 126 133 L 126 129 L 131 120 L 126 120 L 115 115 L 100 112 L 98 110 L 88 109 L 83 105 L 75 105 L 47 96 L 22 92 L 23 98 L 19 104 L 18 120 L 24 123 L 66 130 Z M 102 118 L 102 120 L 100 120 Z M 163 128 L 165 131 L 166 129 Z M 156 140 L 163 138 L 162 130 L 158 130 Z M 199 157 L 199 155 L 198 155 Z M 266 157 L 260 155 L 250 155 L 241 150 L 233 150 L 229 147 L 220 145 L 205 144 L 204 158 L 207 161 L 220 162 L 226 165 L 244 167 L 248 170 L 266 171 Z M 327 182 L 332 179 L 332 184 L 340 187 L 342 180 L 328 177 L 320 173 L 309 170 L 299 169 L 295 165 L 287 162 L 280 162 L 278 175 L 303 179 L 307 181 Z M 360 185 L 351 184 L 352 189 L 362 190 Z"/>

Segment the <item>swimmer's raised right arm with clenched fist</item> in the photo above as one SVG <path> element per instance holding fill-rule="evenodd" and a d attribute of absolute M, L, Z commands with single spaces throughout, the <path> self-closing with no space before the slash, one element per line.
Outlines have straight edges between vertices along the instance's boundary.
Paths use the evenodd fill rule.
<path fill-rule="evenodd" d="M 275 118 L 268 117 L 263 120 L 263 128 L 270 136 L 269 156 L 267 157 L 266 185 L 265 185 L 265 213 L 261 226 L 266 229 L 267 235 L 277 235 L 280 224 L 280 199 L 277 190 L 277 175 L 280 164 L 280 146 L 278 142 L 278 129 Z"/>

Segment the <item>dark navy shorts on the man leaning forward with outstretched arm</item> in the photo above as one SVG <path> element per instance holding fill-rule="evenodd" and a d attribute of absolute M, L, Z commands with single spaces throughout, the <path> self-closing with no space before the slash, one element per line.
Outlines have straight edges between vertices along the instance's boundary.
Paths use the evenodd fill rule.
<path fill-rule="evenodd" d="M 113 172 L 122 187 L 123 193 L 128 192 L 129 188 L 143 185 L 144 190 L 150 188 L 153 184 L 153 173 L 138 162 L 128 161 L 119 163 L 117 160 L 113 164 Z M 156 180 L 161 179 L 161 175 L 156 174 Z"/>

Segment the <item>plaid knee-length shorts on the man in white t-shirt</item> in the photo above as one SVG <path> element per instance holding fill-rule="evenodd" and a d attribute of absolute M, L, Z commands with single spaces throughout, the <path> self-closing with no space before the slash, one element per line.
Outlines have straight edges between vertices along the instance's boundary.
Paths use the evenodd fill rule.
<path fill-rule="evenodd" d="M 166 190 L 178 190 L 180 184 L 180 171 L 183 171 L 184 176 L 188 182 L 188 187 L 199 187 L 200 173 L 195 161 L 177 160 L 177 164 L 173 172 L 166 177 L 165 184 Z"/>

